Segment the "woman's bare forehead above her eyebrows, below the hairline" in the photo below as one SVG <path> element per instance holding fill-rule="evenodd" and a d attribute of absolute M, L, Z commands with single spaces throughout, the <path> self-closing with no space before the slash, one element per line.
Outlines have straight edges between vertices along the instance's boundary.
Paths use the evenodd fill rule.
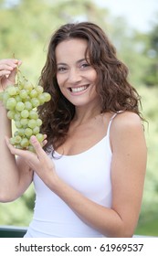
<path fill-rule="evenodd" d="M 67 59 L 85 58 L 88 47 L 88 41 L 81 38 L 70 38 L 60 42 L 56 48 L 55 54 L 57 61 Z"/>

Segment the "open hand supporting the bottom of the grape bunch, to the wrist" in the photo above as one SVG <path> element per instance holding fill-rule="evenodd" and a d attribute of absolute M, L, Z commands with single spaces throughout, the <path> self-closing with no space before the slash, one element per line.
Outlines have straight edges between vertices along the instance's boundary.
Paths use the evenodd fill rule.
<path fill-rule="evenodd" d="M 37 173 L 46 185 L 48 185 L 47 183 L 50 181 L 50 176 L 56 176 L 55 165 L 47 156 L 41 144 L 37 141 L 36 136 L 33 135 L 30 138 L 31 144 L 34 146 L 36 153 L 28 150 L 17 149 L 15 146 L 10 144 L 7 137 L 5 138 L 5 141 L 11 154 L 22 157 L 26 161 L 26 164 Z"/>

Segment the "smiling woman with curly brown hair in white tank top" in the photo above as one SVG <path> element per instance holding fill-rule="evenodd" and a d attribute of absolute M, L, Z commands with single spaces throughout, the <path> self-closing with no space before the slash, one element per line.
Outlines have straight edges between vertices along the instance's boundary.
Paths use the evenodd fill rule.
<path fill-rule="evenodd" d="M 1 89 L 14 84 L 19 65 L 17 59 L 0 61 Z M 132 237 L 146 145 L 140 98 L 127 76 L 100 27 L 67 24 L 51 37 L 39 80 L 52 96 L 38 109 L 47 134 L 44 148 L 35 136 L 36 154 L 9 144 L 1 102 L 0 200 L 15 200 L 34 182 L 34 217 L 26 237 Z"/>

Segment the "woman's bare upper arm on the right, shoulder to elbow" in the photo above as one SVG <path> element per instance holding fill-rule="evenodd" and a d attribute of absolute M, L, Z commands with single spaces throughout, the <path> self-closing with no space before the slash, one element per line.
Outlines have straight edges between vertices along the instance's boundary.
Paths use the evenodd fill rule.
<path fill-rule="evenodd" d="M 121 218 L 123 236 L 130 236 L 136 228 L 142 206 L 147 148 L 137 114 L 123 112 L 112 124 L 112 208 Z"/>

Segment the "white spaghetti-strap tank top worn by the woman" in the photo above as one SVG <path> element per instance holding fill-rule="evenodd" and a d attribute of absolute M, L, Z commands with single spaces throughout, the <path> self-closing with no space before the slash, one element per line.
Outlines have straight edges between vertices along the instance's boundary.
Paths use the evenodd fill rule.
<path fill-rule="evenodd" d="M 111 208 L 111 121 L 106 136 L 87 151 L 78 155 L 62 156 L 55 152 L 55 156 L 61 157 L 52 160 L 56 165 L 58 176 L 69 186 L 106 208 Z M 49 157 L 52 158 L 51 153 Z M 34 174 L 34 186 L 36 190 L 34 216 L 25 237 L 103 237 L 98 230 L 79 219 L 36 173 Z"/>

